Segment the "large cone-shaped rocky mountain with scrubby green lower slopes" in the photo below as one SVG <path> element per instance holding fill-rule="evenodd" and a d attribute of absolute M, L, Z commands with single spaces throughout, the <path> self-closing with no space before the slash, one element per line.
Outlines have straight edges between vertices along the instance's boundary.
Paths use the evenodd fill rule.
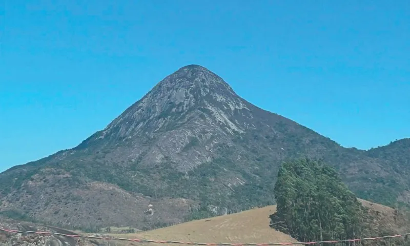
<path fill-rule="evenodd" d="M 361 198 L 409 204 L 410 180 L 388 157 L 395 148 L 343 148 L 190 65 L 77 147 L 1 173 L 0 214 L 87 230 L 162 227 L 273 204 L 280 163 L 298 157 L 334 166 Z"/>

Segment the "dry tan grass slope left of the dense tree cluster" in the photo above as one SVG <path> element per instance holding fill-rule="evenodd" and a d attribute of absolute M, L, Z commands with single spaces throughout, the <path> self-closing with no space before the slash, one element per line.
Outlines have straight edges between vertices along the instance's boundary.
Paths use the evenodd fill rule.
<path fill-rule="evenodd" d="M 289 235 L 269 227 L 269 215 L 275 211 L 276 206 L 269 206 L 237 214 L 194 220 L 152 231 L 132 234 L 111 233 L 110 235 L 123 238 L 191 242 L 296 242 Z"/>

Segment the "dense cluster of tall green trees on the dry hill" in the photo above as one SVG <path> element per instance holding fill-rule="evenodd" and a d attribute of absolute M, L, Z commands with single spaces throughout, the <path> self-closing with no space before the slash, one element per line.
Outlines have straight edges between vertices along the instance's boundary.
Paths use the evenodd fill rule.
<path fill-rule="evenodd" d="M 336 171 L 321 162 L 283 163 L 274 194 L 277 213 L 271 219 L 298 240 L 358 238 L 366 230 L 365 209 Z"/>

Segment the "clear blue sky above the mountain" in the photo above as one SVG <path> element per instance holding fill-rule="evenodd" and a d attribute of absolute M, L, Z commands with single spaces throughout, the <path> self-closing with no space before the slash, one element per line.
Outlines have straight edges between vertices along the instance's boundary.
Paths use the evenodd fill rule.
<path fill-rule="evenodd" d="M 189 64 L 345 147 L 410 137 L 406 0 L 0 2 L 0 171 L 76 146 Z"/>

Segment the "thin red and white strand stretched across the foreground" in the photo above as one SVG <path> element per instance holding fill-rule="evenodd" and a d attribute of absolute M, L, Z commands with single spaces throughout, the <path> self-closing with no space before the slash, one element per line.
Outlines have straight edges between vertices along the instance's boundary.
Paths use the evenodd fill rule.
<path fill-rule="evenodd" d="M 9 232 L 9 233 L 24 233 L 24 234 L 40 234 L 40 235 L 55 235 L 55 236 L 64 236 L 71 238 L 85 238 L 85 239 L 99 239 L 99 240 L 117 240 L 117 241 L 129 241 L 129 242 L 148 242 L 148 243 L 172 243 L 172 244 L 185 244 L 185 245 L 211 245 L 211 246 L 270 246 L 270 245 L 312 245 L 320 243 L 339 243 L 339 242 L 360 242 L 360 241 L 369 241 L 369 240 L 383 240 L 388 238 L 399 238 L 409 236 L 410 233 L 383 236 L 383 237 L 366 237 L 366 238 L 357 238 L 357 239 L 344 239 L 344 240 L 334 240 L 334 241 L 316 241 L 316 242 L 272 242 L 272 243 L 205 243 L 205 242 L 182 242 L 182 241 L 164 241 L 164 240 L 150 240 L 150 239 L 129 239 L 129 238 L 116 238 L 116 237 L 98 237 L 98 236 L 86 236 L 86 235 L 69 235 L 63 233 L 53 233 L 53 232 L 34 232 L 34 231 L 18 231 L 11 229 L 0 228 L 0 231 Z"/>

